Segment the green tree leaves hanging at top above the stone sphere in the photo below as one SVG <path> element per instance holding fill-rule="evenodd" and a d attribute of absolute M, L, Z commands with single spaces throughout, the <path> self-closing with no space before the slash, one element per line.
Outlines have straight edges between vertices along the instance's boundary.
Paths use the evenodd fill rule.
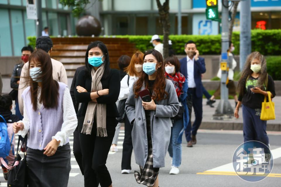
<path fill-rule="evenodd" d="M 92 6 L 95 4 L 97 0 L 95 0 L 92 4 L 89 6 Z M 102 1 L 102 0 L 98 0 Z M 60 0 L 59 1 L 63 6 L 71 6 L 72 8 L 72 13 L 73 16 L 76 18 L 79 18 L 81 13 L 85 12 L 86 6 L 90 3 L 89 0 Z"/>

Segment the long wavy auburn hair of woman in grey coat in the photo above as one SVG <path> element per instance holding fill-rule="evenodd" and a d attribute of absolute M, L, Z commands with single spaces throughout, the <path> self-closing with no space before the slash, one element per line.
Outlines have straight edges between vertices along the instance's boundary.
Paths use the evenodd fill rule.
<path fill-rule="evenodd" d="M 146 55 L 152 54 L 158 63 L 162 63 L 161 67 L 158 67 L 156 73 L 156 79 L 155 79 L 155 83 L 153 85 L 153 91 L 154 94 L 152 96 L 153 100 L 157 100 L 160 101 L 162 99 L 165 98 L 165 95 L 168 96 L 168 93 L 165 91 L 165 86 L 166 86 L 166 82 L 165 82 L 165 68 L 164 68 L 164 63 L 163 63 L 163 56 L 159 51 L 156 51 L 155 49 L 151 49 L 150 51 L 147 51 L 144 56 L 143 56 L 143 60 L 145 59 Z M 140 72 L 140 77 L 138 78 L 138 80 L 136 81 L 136 83 L 134 84 L 134 92 L 137 98 L 138 95 L 138 91 L 140 91 L 141 87 L 143 86 L 143 83 L 145 84 L 145 88 L 148 88 L 148 75 L 142 71 Z"/>

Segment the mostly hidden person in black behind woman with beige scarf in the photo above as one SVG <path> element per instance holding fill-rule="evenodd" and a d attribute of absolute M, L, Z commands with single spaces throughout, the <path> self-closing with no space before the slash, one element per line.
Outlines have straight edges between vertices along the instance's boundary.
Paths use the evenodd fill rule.
<path fill-rule="evenodd" d="M 79 103 L 76 103 L 75 97 L 74 97 L 74 89 L 75 88 L 75 84 L 76 84 L 76 79 L 79 75 L 79 72 L 82 70 L 86 70 L 86 66 L 81 66 L 78 67 L 74 73 L 73 79 L 72 79 L 72 83 L 71 83 L 71 87 L 70 87 L 70 95 L 72 98 L 72 102 L 74 105 L 74 109 L 75 112 L 77 114 L 78 112 L 78 108 L 79 108 Z M 83 164 L 82 164 L 82 151 L 81 151 L 81 147 L 80 147 L 80 140 L 79 140 L 79 131 L 78 131 L 78 125 L 75 129 L 75 131 L 73 132 L 73 155 L 75 157 L 76 162 L 79 165 L 79 168 L 81 170 L 82 175 L 84 174 L 84 169 L 83 169 Z"/>

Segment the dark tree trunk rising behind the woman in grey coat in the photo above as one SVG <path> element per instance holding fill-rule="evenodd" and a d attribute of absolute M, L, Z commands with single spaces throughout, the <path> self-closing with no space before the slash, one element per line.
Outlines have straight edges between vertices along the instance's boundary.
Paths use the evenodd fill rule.
<path fill-rule="evenodd" d="M 161 5 L 160 0 L 156 0 L 158 12 L 160 15 L 160 25 L 163 28 L 163 58 L 167 58 L 169 56 L 169 34 L 170 34 L 170 18 L 169 18 L 169 0 L 166 0 L 163 5 Z M 163 62 L 162 62 L 163 63 Z"/>

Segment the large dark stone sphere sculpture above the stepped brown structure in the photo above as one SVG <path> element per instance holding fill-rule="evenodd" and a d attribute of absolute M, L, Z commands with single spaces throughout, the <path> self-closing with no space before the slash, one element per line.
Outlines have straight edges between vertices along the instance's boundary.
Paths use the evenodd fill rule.
<path fill-rule="evenodd" d="M 99 36 L 101 31 L 100 21 L 91 15 L 83 16 L 76 24 L 78 36 Z"/>

